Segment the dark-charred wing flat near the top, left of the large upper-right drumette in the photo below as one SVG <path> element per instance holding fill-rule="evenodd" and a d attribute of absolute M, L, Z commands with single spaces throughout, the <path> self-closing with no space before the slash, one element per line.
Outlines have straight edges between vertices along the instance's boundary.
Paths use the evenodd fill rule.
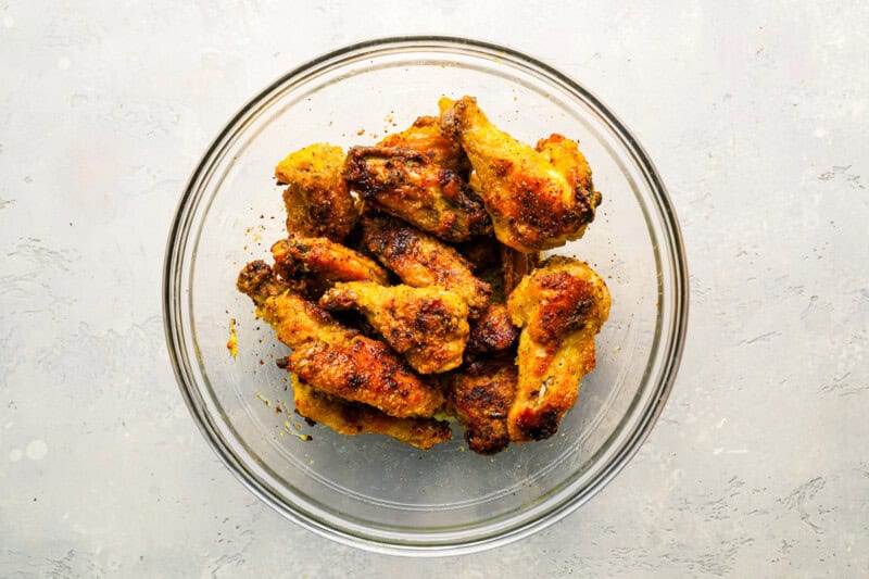
<path fill-rule="evenodd" d="M 492 230 L 482 201 L 469 194 L 462 176 L 413 149 L 353 147 L 344 177 L 366 201 L 446 241 Z"/>

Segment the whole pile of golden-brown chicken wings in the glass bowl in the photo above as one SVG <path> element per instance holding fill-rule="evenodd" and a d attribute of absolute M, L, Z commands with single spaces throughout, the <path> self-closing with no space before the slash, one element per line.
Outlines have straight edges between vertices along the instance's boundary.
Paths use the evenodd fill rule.
<path fill-rule="evenodd" d="M 540 252 L 580 238 L 601 194 L 576 141 L 532 148 L 471 97 L 439 106 L 375 147 L 281 161 L 288 236 L 237 287 L 291 349 L 305 418 L 418 449 L 454 418 L 493 454 L 552 437 L 594 368 L 606 284 Z"/>

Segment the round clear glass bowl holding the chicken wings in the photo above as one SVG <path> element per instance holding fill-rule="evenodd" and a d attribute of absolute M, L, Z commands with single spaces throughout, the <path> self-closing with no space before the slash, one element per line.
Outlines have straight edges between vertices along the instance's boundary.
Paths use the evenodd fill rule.
<path fill-rule="evenodd" d="M 613 297 L 597 367 L 545 441 L 494 456 L 453 441 L 423 452 L 344 437 L 292 414 L 275 358 L 287 353 L 236 291 L 248 261 L 286 236 L 272 179 L 288 152 L 374 143 L 438 98 L 477 97 L 527 142 L 580 141 L 603 193 L 585 236 L 551 253 L 588 261 Z M 525 537 L 588 501 L 648 436 L 684 338 L 688 275 L 676 215 L 651 161 L 596 98 L 514 50 L 436 37 L 354 45 L 292 71 L 250 101 L 205 152 L 168 238 L 164 315 L 185 401 L 230 470 L 288 518 L 323 536 L 399 554 L 476 551 Z M 227 351 L 237 320 L 238 356 Z M 313 440 L 305 441 L 310 435 Z"/>

